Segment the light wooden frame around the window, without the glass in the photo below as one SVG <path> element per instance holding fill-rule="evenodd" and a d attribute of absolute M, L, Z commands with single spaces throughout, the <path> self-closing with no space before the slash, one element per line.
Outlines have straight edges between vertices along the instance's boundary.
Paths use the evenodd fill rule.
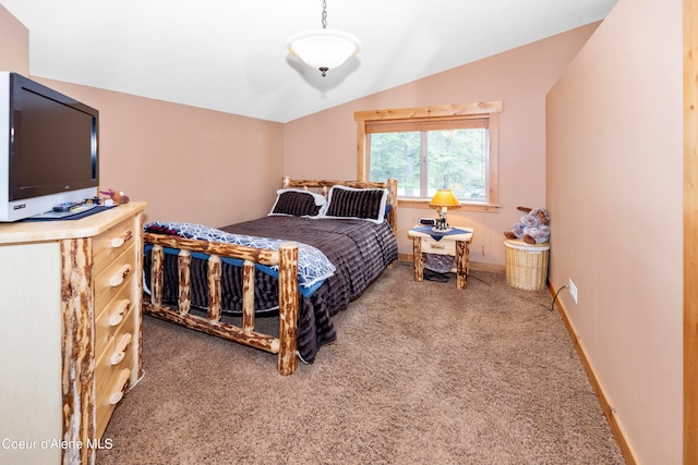
<path fill-rule="evenodd" d="M 488 200 L 468 201 L 460 199 L 461 209 L 470 211 L 497 211 L 498 199 L 498 152 L 500 152 L 500 118 L 503 111 L 501 100 L 479 101 L 473 103 L 456 103 L 432 107 L 413 107 L 401 109 L 369 110 L 354 112 L 357 122 L 357 178 L 368 181 L 369 137 L 372 124 L 390 124 L 399 127 L 401 124 L 417 126 L 423 124 L 424 131 L 446 130 L 454 122 L 473 118 L 488 119 L 489 129 L 489 166 L 488 166 Z M 397 132 L 397 131 L 396 131 Z M 431 208 L 429 199 L 398 198 L 398 205 L 408 208 Z"/>

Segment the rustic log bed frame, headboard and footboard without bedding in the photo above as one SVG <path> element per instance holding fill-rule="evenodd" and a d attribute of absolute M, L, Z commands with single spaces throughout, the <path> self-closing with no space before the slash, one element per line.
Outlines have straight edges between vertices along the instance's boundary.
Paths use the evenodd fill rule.
<path fill-rule="evenodd" d="M 386 188 L 392 206 L 387 221 L 397 235 L 397 180 L 381 182 L 358 181 L 305 181 L 282 179 L 282 188 L 320 189 L 327 197 L 333 185 L 340 184 L 358 188 Z M 144 244 L 153 244 L 151 295 L 144 295 L 143 313 L 156 318 L 202 331 L 240 344 L 250 345 L 272 354 L 277 354 L 277 370 L 291 375 L 298 366 L 297 320 L 299 311 L 298 291 L 298 246 L 284 243 L 278 250 L 254 248 L 233 244 L 197 241 L 165 234 L 144 233 Z M 164 291 L 164 247 L 179 249 L 179 297 L 177 305 L 163 303 Z M 206 316 L 190 313 L 191 309 L 191 256 L 193 252 L 204 253 L 208 258 L 208 306 Z M 242 265 L 242 326 L 221 321 L 221 259 L 230 257 L 243 260 Z M 278 338 L 254 330 L 254 266 L 278 266 L 279 268 L 279 334 Z"/>

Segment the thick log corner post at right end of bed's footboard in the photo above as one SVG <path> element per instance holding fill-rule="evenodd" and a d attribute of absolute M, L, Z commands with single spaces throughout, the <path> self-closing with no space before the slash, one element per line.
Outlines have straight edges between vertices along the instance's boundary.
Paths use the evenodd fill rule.
<path fill-rule="evenodd" d="M 291 375 L 298 366 L 298 246 L 293 243 L 279 245 L 279 353 L 277 369 L 281 375 Z"/>

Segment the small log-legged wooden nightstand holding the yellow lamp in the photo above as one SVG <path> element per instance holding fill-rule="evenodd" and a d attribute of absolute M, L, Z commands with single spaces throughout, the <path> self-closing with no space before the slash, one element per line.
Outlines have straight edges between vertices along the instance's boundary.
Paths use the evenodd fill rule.
<path fill-rule="evenodd" d="M 472 228 L 454 228 L 447 233 L 437 233 L 431 227 L 414 227 L 408 233 L 412 238 L 414 259 L 414 281 L 424 280 L 423 254 L 449 255 L 456 257 L 456 287 L 468 286 L 470 274 L 470 249 L 474 230 Z"/>

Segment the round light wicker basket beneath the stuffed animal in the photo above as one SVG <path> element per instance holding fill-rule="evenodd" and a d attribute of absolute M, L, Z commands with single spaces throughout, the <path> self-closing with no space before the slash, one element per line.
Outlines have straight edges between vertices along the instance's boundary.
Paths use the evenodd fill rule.
<path fill-rule="evenodd" d="M 527 244 L 521 240 L 504 241 L 506 282 L 527 291 L 540 291 L 547 280 L 550 244 Z"/>

